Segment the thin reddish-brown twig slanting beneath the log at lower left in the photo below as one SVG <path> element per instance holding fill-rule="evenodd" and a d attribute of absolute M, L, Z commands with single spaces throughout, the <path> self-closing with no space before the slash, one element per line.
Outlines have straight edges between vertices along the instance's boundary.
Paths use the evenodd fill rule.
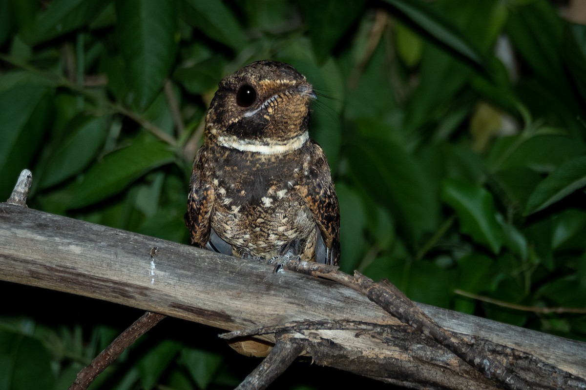
<path fill-rule="evenodd" d="M 104 371 L 108 365 L 120 356 L 126 348 L 132 345 L 139 337 L 147 333 L 166 316 L 158 313 L 146 312 L 142 317 L 129 326 L 120 336 L 101 351 L 89 365 L 83 368 L 78 374 L 69 390 L 86 390 L 96 377 Z"/>

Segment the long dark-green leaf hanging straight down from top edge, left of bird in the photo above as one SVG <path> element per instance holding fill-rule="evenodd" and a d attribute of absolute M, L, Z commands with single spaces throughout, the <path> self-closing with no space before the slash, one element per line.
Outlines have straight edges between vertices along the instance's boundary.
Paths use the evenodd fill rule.
<path fill-rule="evenodd" d="M 131 103 L 144 110 L 168 77 L 179 34 L 175 0 L 118 0 L 118 44 L 126 64 Z"/>

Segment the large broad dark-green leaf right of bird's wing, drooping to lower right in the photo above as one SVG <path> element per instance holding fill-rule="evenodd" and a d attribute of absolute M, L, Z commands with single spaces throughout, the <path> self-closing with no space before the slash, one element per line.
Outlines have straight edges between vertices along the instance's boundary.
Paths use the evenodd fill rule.
<path fill-rule="evenodd" d="M 437 225 L 437 197 L 423 168 L 400 146 L 369 139 L 347 150 L 357 182 L 381 205 L 389 208 L 398 226 L 415 244 Z"/>

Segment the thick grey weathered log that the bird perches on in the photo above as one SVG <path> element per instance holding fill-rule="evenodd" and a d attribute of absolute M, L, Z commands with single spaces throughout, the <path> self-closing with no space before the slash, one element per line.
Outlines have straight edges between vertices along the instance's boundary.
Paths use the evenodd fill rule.
<path fill-rule="evenodd" d="M 156 247 L 156 256 L 153 248 Z M 335 282 L 105 226 L 0 204 L 0 279 L 226 330 L 293 321 L 318 364 L 410 388 L 495 389 L 444 347 Z M 418 305 L 534 389 L 586 389 L 586 343 Z M 347 320 L 364 323 L 352 330 Z M 274 342 L 270 334 L 260 336 Z"/>

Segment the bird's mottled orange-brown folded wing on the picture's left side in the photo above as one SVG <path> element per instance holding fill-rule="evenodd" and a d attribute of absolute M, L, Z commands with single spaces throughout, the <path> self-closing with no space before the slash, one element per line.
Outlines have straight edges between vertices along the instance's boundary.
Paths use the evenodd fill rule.
<path fill-rule="evenodd" d="M 192 243 L 203 248 L 210 239 L 210 214 L 214 203 L 214 188 L 209 181 L 205 180 L 202 165 L 200 150 L 193 162 L 185 224 L 189 229 Z"/>

